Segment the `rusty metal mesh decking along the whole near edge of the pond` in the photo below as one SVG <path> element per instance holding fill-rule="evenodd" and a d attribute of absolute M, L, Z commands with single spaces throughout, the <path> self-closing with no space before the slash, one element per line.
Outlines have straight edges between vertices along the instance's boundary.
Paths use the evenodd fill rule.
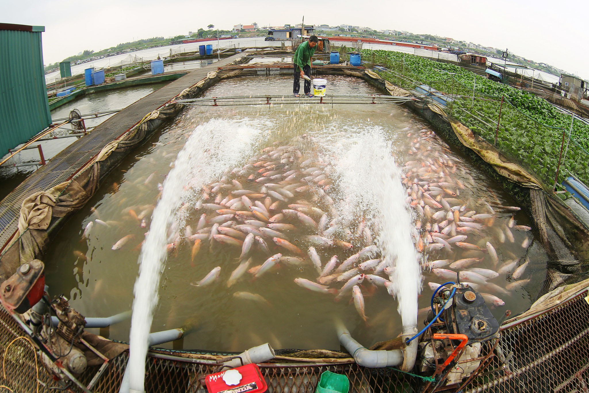
<path fill-rule="evenodd" d="M 462 392 L 573 392 L 586 391 L 589 382 L 589 305 L 587 291 L 531 319 L 502 329 L 501 341 L 491 362 L 469 381 Z M 2 384 L 14 391 L 49 391 L 57 387 L 22 335 L 16 322 L 0 308 L 0 350 L 6 378 Z M 492 343 L 484 345 L 487 355 Z M 204 392 L 203 378 L 217 365 L 180 357 L 162 358 L 169 351 L 154 351 L 147 359 L 145 391 Z M 168 356 L 169 357 L 169 356 Z M 128 353 L 112 359 L 93 392 L 115 392 L 120 388 Z M 420 392 L 422 379 L 393 368 L 369 369 L 356 364 L 263 364 L 260 366 L 269 392 L 314 392 L 323 371 L 345 374 L 350 392 Z M 98 371 L 88 367 L 80 376 L 87 385 Z M 444 389 L 442 385 L 439 390 Z M 74 389 L 75 391 L 75 389 Z"/>

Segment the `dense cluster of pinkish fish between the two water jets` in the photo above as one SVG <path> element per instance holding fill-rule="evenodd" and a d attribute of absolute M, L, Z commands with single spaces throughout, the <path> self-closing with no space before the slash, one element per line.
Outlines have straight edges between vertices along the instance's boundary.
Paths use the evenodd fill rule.
<path fill-rule="evenodd" d="M 343 227 L 336 201 L 329 196 L 333 187 L 329 172 L 329 162 L 321 158 L 307 157 L 292 145 L 273 146 L 203 187 L 194 212 L 188 213 L 193 220 L 184 228 L 184 236 L 171 235 L 176 238 L 172 248 L 177 242 L 189 242 L 191 262 L 198 263 L 200 253 L 229 247 L 236 262 L 204 272 L 190 285 L 225 280 L 231 288 L 240 280 L 266 279 L 280 266 L 309 267 L 316 272 L 313 279 L 298 277 L 292 285 L 338 301 L 350 300 L 367 321 L 360 285 L 364 290 L 373 287 L 370 291 L 376 286 L 386 289 L 391 266 L 378 258 L 365 222 L 355 223 L 353 230 L 347 224 Z M 270 304 L 264 294 L 240 291 L 232 296 Z"/>

